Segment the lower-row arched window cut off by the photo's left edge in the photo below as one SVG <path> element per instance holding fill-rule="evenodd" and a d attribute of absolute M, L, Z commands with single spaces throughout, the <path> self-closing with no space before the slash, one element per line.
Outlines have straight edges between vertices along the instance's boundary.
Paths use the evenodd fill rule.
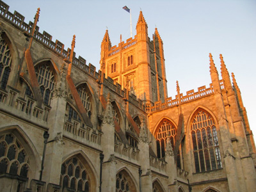
<path fill-rule="evenodd" d="M 20 141 L 13 134 L 0 136 L 0 174 L 10 173 L 28 177 L 29 158 Z"/>

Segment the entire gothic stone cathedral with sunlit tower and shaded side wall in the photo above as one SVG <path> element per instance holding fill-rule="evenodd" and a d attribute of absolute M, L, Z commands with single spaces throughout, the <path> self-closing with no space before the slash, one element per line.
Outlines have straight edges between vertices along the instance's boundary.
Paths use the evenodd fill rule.
<path fill-rule="evenodd" d="M 101 43 L 100 70 L 0 1 L 0 191 L 256 190 L 256 150 L 234 74 L 168 97 L 163 41 Z"/>

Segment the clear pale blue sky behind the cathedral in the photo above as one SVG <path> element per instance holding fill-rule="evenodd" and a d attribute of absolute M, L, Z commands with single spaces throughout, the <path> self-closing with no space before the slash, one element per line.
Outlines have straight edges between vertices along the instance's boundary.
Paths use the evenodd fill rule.
<path fill-rule="evenodd" d="M 21 13 L 25 21 L 33 21 L 40 7 L 39 31 L 52 35 L 70 47 L 76 35 L 76 56 L 99 69 L 100 43 L 108 27 L 112 45 L 130 36 L 131 8 L 132 32 L 140 9 L 148 24 L 152 38 L 157 27 L 164 43 L 164 57 L 168 80 L 168 97 L 175 97 L 176 81 L 180 92 L 206 85 L 209 87 L 209 52 L 220 73 L 220 54 L 228 71 L 234 72 L 242 93 L 250 127 L 256 138 L 256 1 L 83 1 L 83 0 L 8 0 L 10 12 Z M 221 78 L 221 77 L 220 77 Z"/>

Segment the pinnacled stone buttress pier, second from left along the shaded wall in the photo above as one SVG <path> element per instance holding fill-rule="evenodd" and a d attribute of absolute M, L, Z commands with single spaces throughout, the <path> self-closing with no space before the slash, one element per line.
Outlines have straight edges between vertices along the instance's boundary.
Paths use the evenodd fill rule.
<path fill-rule="evenodd" d="M 116 161 L 115 161 L 115 124 L 110 102 L 110 93 L 108 102 L 104 111 L 102 122 L 102 150 L 104 161 L 102 164 L 102 191 L 116 191 Z"/>

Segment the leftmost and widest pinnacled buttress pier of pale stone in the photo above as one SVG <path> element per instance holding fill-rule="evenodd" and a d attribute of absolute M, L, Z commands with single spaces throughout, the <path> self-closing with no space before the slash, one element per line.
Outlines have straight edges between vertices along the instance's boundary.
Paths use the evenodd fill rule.
<path fill-rule="evenodd" d="M 63 127 L 65 124 L 67 85 L 65 76 L 67 68 L 63 63 L 61 67 L 60 80 L 56 83 L 51 100 L 51 111 L 49 113 L 49 140 L 46 144 L 44 170 L 42 180 L 52 184 L 60 184 L 60 171 L 63 154 Z"/>

